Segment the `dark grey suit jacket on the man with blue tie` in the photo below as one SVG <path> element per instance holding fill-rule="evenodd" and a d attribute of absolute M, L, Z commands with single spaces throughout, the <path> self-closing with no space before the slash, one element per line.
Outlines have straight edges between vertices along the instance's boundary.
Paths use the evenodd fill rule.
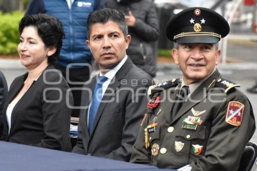
<path fill-rule="evenodd" d="M 84 85 L 81 106 L 89 106 L 95 83 L 96 76 Z M 103 95 L 91 135 L 86 124 L 88 110 L 80 111 L 73 152 L 129 161 L 152 83 L 151 77 L 128 58 Z"/>

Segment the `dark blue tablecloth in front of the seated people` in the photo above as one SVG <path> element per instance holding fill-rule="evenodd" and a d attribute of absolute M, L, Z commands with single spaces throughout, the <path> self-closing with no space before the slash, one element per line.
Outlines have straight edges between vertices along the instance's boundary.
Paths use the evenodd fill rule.
<path fill-rule="evenodd" d="M 68 153 L 0 141 L 0 170 L 3 171 L 158 171 L 154 166 Z"/>

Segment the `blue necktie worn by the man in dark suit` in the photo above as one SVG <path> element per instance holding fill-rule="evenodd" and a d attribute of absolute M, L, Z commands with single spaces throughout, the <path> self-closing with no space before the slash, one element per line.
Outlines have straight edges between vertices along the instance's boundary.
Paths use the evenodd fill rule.
<path fill-rule="evenodd" d="M 98 110 L 100 101 L 102 99 L 102 84 L 106 82 L 108 78 L 105 76 L 99 76 L 96 81 L 96 85 L 93 92 L 93 97 L 91 101 L 91 107 L 89 109 L 89 122 L 88 122 L 88 131 L 91 134 L 92 127 L 96 118 L 96 112 Z"/>

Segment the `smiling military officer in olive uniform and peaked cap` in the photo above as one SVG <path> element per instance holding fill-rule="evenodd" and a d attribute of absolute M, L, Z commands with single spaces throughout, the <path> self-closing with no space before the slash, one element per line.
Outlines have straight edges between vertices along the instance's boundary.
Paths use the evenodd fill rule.
<path fill-rule="evenodd" d="M 215 11 L 188 8 L 171 18 L 167 37 L 182 79 L 151 86 L 130 162 L 191 171 L 238 170 L 255 131 L 251 103 L 215 68 L 229 24 Z"/>

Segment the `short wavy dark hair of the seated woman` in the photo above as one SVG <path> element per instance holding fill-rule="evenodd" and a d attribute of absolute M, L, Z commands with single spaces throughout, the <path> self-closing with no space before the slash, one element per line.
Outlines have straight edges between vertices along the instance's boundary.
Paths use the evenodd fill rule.
<path fill-rule="evenodd" d="M 56 52 L 48 57 L 48 63 L 54 64 L 60 54 L 64 31 L 62 23 L 55 17 L 46 14 L 24 16 L 19 22 L 20 35 L 24 27 L 34 26 L 37 34 L 46 47 L 56 47 Z"/>

